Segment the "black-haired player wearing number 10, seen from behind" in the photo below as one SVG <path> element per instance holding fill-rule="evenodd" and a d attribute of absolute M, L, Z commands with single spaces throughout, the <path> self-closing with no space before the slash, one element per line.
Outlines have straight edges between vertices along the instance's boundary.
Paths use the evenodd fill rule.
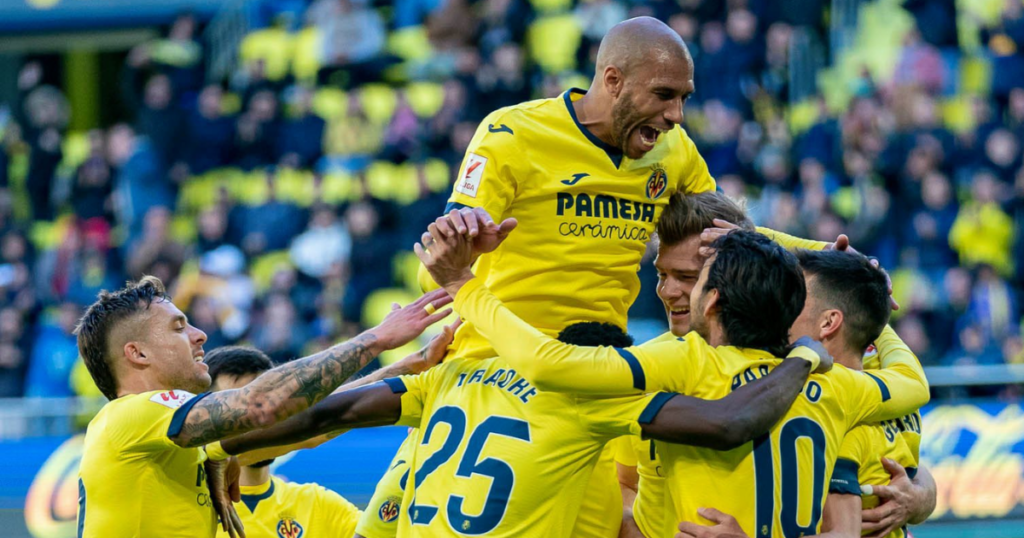
<path fill-rule="evenodd" d="M 623 350 L 573 348 L 519 320 L 474 278 L 464 236 L 435 231 L 430 252 L 417 245 L 417 254 L 456 297 L 460 314 L 539 389 L 593 395 L 667 389 L 721 398 L 779 365 L 771 353 L 785 347 L 803 309 L 804 278 L 794 255 L 761 235 L 737 231 L 713 245 L 690 296 L 694 330 L 684 338 Z M 708 505 L 741 515 L 742 529 L 751 535 L 756 529 L 759 538 L 816 533 L 831 463 L 846 432 L 928 401 L 928 383 L 909 349 L 898 340 L 880 344 L 889 347 L 886 369 L 873 376 L 845 368 L 812 376 L 782 421 L 753 446 L 715 452 L 658 443 L 671 506 L 651 536 L 674 534 L 675 522 L 694 521 L 697 509 Z M 813 457 L 791 457 L 798 438 L 809 440 Z M 788 466 L 783 469 L 782 463 Z M 810 478 L 812 495 L 777 502 L 795 491 L 798 473 Z M 798 506 L 809 520 L 796 519 Z"/>

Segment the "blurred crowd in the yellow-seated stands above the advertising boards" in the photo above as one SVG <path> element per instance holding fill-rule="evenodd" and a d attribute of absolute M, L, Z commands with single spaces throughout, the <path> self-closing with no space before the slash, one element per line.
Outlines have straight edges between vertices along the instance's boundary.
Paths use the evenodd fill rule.
<path fill-rule="evenodd" d="M 267 0 L 215 81 L 186 14 L 104 89 L 130 117 L 89 132 L 29 61 L 0 109 L 0 397 L 88 392 L 75 321 L 144 274 L 208 348 L 287 361 L 376 323 L 414 296 L 409 250 L 483 116 L 586 87 L 601 36 L 643 14 L 688 43 L 685 126 L 759 224 L 878 256 L 926 365 L 1024 363 L 1024 5 L 895 3 L 891 75 L 864 69 L 838 106 L 823 88 L 803 122 L 791 43 L 829 43 L 824 0 Z M 969 63 L 986 84 L 965 88 Z M 664 317 L 648 265 L 638 327 Z"/>

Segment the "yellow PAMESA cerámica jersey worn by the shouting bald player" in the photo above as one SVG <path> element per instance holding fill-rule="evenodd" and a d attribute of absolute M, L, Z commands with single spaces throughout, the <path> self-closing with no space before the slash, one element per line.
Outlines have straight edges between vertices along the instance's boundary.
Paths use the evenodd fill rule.
<path fill-rule="evenodd" d="M 481 207 L 496 221 L 518 219 L 515 233 L 480 257 L 476 274 L 549 334 L 581 321 L 626 327 L 640 258 L 669 198 L 715 189 L 682 127 L 634 161 L 579 123 L 572 101 L 584 94 L 572 89 L 487 116 L 449 201 L 449 209 Z M 429 287 L 429 279 L 421 267 L 421 284 Z M 494 356 L 471 323 L 453 348 L 456 357 Z"/>

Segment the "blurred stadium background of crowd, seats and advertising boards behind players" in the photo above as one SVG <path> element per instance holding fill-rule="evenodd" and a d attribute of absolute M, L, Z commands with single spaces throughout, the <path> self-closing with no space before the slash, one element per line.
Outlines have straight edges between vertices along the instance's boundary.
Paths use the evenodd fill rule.
<path fill-rule="evenodd" d="M 685 127 L 759 224 L 848 234 L 928 367 L 919 537 L 1024 537 L 1024 1 L 0 2 L 0 527 L 75 535 L 102 404 L 72 335 L 143 274 L 285 362 L 418 295 L 488 112 L 586 88 L 615 23 L 688 43 Z M 649 260 L 630 330 L 665 330 Z M 381 358 L 389 362 L 417 344 Z M 279 463 L 364 504 L 403 432 Z"/>

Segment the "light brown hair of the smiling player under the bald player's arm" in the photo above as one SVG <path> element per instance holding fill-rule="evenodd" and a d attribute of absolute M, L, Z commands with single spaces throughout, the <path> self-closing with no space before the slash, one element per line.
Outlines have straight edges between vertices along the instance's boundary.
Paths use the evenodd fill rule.
<path fill-rule="evenodd" d="M 658 241 L 666 246 L 678 245 L 699 236 L 705 229 L 715 227 L 716 218 L 728 220 L 740 230 L 754 230 L 754 222 L 746 216 L 743 206 L 724 193 L 677 193 L 672 195 L 657 221 Z"/>

